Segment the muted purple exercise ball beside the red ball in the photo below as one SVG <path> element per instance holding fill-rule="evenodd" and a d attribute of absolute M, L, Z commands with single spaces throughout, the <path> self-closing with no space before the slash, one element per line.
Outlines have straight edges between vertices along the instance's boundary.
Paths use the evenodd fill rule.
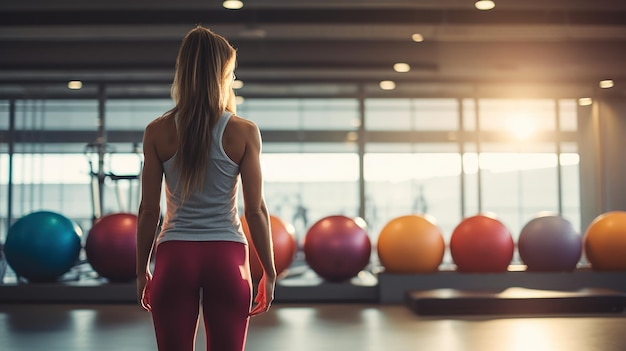
<path fill-rule="evenodd" d="M 529 271 L 572 271 L 582 255 L 582 238 L 565 218 L 539 215 L 522 228 L 517 249 Z"/>

